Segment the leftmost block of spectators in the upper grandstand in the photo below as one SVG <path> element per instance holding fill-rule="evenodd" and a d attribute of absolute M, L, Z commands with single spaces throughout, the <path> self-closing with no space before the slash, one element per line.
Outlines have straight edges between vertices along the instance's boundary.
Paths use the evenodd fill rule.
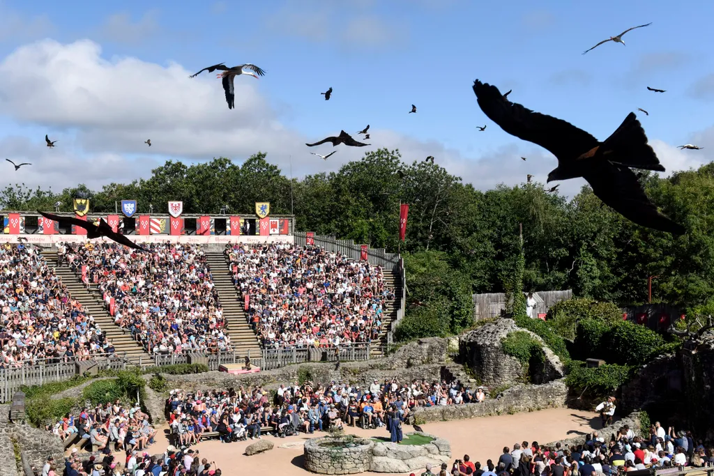
<path fill-rule="evenodd" d="M 0 308 L 0 368 L 114 353 L 34 245 L 0 245 Z"/>

